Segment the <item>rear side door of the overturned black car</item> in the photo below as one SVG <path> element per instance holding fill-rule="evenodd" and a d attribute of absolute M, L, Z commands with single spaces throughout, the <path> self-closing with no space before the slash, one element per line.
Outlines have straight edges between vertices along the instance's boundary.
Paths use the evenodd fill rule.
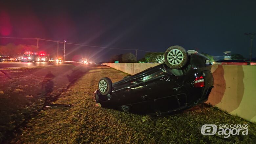
<path fill-rule="evenodd" d="M 182 77 L 167 73 L 164 69 L 158 69 L 143 82 L 150 90 L 150 101 L 157 112 L 175 110 L 186 103 L 186 95 L 182 92 Z"/>

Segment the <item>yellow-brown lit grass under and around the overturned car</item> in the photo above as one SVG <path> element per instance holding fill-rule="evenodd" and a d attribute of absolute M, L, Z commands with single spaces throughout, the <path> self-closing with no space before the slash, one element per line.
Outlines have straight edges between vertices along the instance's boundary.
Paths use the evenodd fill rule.
<path fill-rule="evenodd" d="M 40 111 L 20 128 L 13 143 L 255 143 L 256 124 L 201 104 L 182 113 L 150 117 L 96 106 L 93 92 L 101 77 L 113 82 L 126 73 L 108 67 L 90 70 L 54 106 Z M 17 90 L 19 91 L 19 90 Z M 73 104 L 65 107 L 63 104 Z M 248 135 L 202 135 L 203 124 L 248 124 Z"/>

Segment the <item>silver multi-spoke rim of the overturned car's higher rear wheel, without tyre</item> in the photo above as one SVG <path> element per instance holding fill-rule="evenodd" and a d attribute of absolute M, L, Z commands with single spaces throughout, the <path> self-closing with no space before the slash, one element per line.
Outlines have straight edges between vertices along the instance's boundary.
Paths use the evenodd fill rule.
<path fill-rule="evenodd" d="M 169 51 L 167 54 L 167 61 L 169 64 L 173 66 L 181 64 L 181 62 L 183 61 L 183 58 L 184 58 L 184 55 L 182 51 L 178 49 L 173 49 Z"/>

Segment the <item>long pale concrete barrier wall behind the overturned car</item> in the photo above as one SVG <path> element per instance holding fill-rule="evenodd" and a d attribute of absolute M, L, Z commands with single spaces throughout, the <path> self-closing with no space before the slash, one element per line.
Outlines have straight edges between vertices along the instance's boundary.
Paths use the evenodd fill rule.
<path fill-rule="evenodd" d="M 159 64 L 104 63 L 131 75 Z M 256 66 L 213 65 L 214 88 L 208 101 L 230 114 L 256 122 Z"/>

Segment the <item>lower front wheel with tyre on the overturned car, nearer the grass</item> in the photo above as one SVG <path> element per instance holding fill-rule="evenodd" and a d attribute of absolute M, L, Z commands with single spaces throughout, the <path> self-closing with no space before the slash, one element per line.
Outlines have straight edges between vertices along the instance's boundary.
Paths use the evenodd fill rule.
<path fill-rule="evenodd" d="M 112 92 L 112 81 L 108 77 L 103 77 L 99 80 L 99 93 L 108 95 Z"/>

